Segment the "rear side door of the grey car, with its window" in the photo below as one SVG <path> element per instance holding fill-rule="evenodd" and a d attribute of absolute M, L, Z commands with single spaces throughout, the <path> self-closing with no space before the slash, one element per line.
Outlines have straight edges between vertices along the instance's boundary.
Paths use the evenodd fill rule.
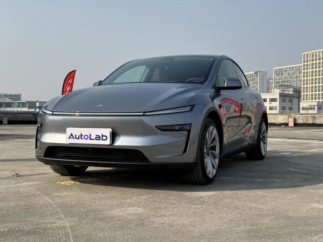
<path fill-rule="evenodd" d="M 245 98 L 245 102 L 242 106 L 239 126 L 242 127 L 242 142 L 243 146 L 250 144 L 251 138 L 256 135 L 257 130 L 255 124 L 256 109 L 259 108 L 258 100 L 261 99 L 260 95 L 248 85 L 248 81 L 245 78 L 241 68 L 234 63 L 234 68 L 237 72 L 238 79 L 242 82 L 243 88 L 241 89 L 242 94 Z M 259 111 L 262 110 L 260 106 Z"/>

